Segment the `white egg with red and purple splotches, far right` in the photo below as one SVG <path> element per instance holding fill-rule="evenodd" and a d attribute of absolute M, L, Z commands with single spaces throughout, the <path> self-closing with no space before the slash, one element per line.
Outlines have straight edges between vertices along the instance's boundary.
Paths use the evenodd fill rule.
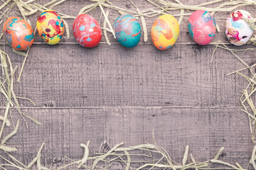
<path fill-rule="evenodd" d="M 251 37 L 253 30 L 242 18 L 251 18 L 247 11 L 238 10 L 228 16 L 225 24 L 225 35 L 233 45 L 244 45 Z"/>

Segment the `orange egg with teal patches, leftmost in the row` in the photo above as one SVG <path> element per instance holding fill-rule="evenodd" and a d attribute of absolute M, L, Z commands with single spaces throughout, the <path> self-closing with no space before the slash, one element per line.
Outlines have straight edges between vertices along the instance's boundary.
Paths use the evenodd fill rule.
<path fill-rule="evenodd" d="M 4 37 L 16 50 L 28 50 L 33 44 L 34 33 L 31 25 L 19 17 L 11 17 L 4 23 Z"/>

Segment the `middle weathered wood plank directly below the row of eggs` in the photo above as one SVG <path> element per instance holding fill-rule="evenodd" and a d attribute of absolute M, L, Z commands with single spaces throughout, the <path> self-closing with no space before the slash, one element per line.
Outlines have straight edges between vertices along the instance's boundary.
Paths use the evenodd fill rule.
<path fill-rule="evenodd" d="M 226 74 L 244 66 L 220 49 L 210 62 L 213 50 L 196 45 L 164 52 L 151 45 L 132 50 L 119 45 L 34 45 L 16 94 L 33 99 L 37 106 L 55 107 L 238 106 L 239 91 L 247 82 Z M 242 59 L 253 64 L 251 54 Z M 11 59 L 20 66 L 23 57 Z"/>

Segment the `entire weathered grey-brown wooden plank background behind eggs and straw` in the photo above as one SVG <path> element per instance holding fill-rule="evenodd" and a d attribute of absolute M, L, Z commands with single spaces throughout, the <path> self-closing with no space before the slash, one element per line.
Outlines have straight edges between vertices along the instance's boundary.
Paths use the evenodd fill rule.
<path fill-rule="evenodd" d="M 37 1 L 46 4 L 48 0 Z M 114 4 L 136 10 L 128 0 Z M 152 7 L 144 0 L 134 1 L 139 8 Z M 181 1 L 201 4 L 203 1 Z M 77 16 L 90 1 L 68 0 L 53 9 Z M 0 2 L 1 5 L 1 2 Z M 242 7 L 256 14 L 254 6 Z M 105 8 L 106 10 L 106 8 Z M 179 13 L 176 11 L 171 14 Z M 33 28 L 39 13 L 29 17 Z M 90 12 L 102 25 L 100 9 Z M 15 14 L 13 14 L 14 16 Z M 110 9 L 113 24 L 118 13 Z M 215 13 L 220 26 L 214 42 L 225 40 L 224 26 L 228 13 Z M 178 17 L 176 16 L 178 19 Z M 147 28 L 156 18 L 146 18 Z M 181 23 L 176 45 L 169 50 L 157 50 L 149 42 L 126 49 L 110 35 L 111 46 L 102 37 L 100 45 L 87 49 L 78 45 L 72 33 L 73 19 L 68 19 L 70 40 L 58 45 L 46 45 L 36 34 L 21 81 L 15 83 L 17 96 L 31 98 L 36 106 L 20 101 L 23 112 L 41 121 L 29 127 L 21 122 L 16 136 L 7 145 L 16 147 L 14 156 L 28 164 L 41 143 L 43 166 L 55 169 L 63 157 L 80 159 L 80 143 L 90 140 L 90 152 L 104 152 L 103 145 L 113 147 L 156 142 L 172 159 L 181 162 L 186 145 L 197 161 L 212 159 L 220 147 L 225 162 L 239 162 L 246 168 L 254 145 L 250 140 L 247 115 L 240 111 L 241 91 L 247 85 L 239 75 L 226 74 L 242 69 L 243 64 L 230 52 L 218 49 L 211 61 L 214 45 L 196 45 L 188 35 L 188 16 Z M 1 25 L 2 26 L 2 25 Z M 14 65 L 21 67 L 23 57 L 11 47 L 1 44 L 11 55 Z M 240 55 L 248 64 L 255 64 L 255 52 Z M 17 78 L 17 75 L 16 75 Z M 4 114 L 4 109 L 1 109 Z M 21 120 L 14 113 L 15 120 Z M 6 131 L 7 134 L 8 131 Z M 11 129 L 9 130 L 11 132 Z M 124 169 L 121 164 L 112 169 Z"/>

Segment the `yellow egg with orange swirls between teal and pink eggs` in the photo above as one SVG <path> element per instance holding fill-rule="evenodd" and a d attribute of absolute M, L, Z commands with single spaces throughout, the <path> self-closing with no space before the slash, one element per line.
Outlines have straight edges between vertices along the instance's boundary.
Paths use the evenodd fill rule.
<path fill-rule="evenodd" d="M 151 38 L 159 50 L 167 50 L 174 45 L 178 38 L 179 26 L 174 16 L 163 15 L 154 21 L 151 28 Z"/>

